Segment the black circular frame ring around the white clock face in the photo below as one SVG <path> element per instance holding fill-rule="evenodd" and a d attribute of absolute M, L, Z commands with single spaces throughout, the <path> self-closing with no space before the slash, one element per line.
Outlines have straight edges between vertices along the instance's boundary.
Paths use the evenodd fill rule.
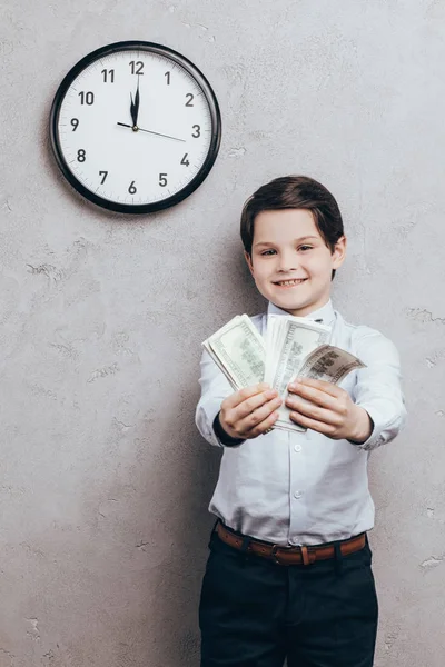
<path fill-rule="evenodd" d="M 109 56 L 110 53 L 117 53 L 117 52 L 127 51 L 127 50 L 149 51 L 151 53 L 158 53 L 160 56 L 166 56 L 167 58 L 169 58 L 170 60 L 172 60 L 174 62 L 176 62 L 177 64 L 182 67 L 185 70 L 187 70 L 188 73 L 191 77 L 194 77 L 194 79 L 196 80 L 198 86 L 201 88 L 201 90 L 207 99 L 209 110 L 210 110 L 210 117 L 211 117 L 210 146 L 209 146 L 209 149 L 207 152 L 206 160 L 204 161 L 204 165 L 200 168 L 200 170 L 198 171 L 198 173 L 187 186 L 185 186 L 181 190 L 179 190 L 175 195 L 171 195 L 171 197 L 162 199 L 161 201 L 154 201 L 150 203 L 119 203 L 119 202 L 115 202 L 115 201 L 105 199 L 103 197 L 99 197 L 95 192 L 91 192 L 91 190 L 86 188 L 69 169 L 69 167 L 65 160 L 62 150 L 60 148 L 60 141 L 59 141 L 58 121 L 59 121 L 60 108 L 61 108 L 61 103 L 65 99 L 65 96 L 66 96 L 69 87 L 71 86 L 72 81 L 80 74 L 80 72 L 83 69 L 86 69 L 89 64 L 91 64 L 99 58 L 101 58 L 103 56 Z M 53 151 L 53 155 L 56 157 L 57 163 L 58 163 L 61 172 L 63 173 L 63 176 L 68 180 L 68 182 L 80 195 L 82 195 L 82 197 L 85 197 L 89 201 L 92 201 L 92 203 L 96 203 L 97 206 L 100 206 L 101 208 L 105 208 L 107 210 L 116 211 L 119 213 L 139 215 L 139 213 L 152 213 L 155 211 L 159 211 L 159 210 L 169 208 L 171 206 L 179 203 L 180 201 L 182 201 L 184 199 L 189 197 L 192 192 L 195 192 L 195 190 L 207 178 L 208 173 L 210 172 L 210 169 L 212 168 L 212 166 L 215 163 L 215 160 L 218 156 L 219 146 L 221 142 L 222 128 L 221 128 L 221 115 L 219 111 L 218 101 L 211 89 L 210 83 L 207 81 L 207 79 L 202 74 L 202 72 L 192 62 L 190 62 L 190 60 L 188 60 L 185 56 L 182 56 L 181 53 L 178 53 L 177 51 L 174 51 L 172 49 L 170 49 L 168 47 L 165 47 L 162 44 L 157 44 L 154 42 L 135 40 L 135 41 L 115 42 L 112 44 L 107 44 L 106 47 L 101 47 L 100 49 L 96 49 L 95 51 L 91 51 L 90 53 L 88 53 L 88 56 L 85 56 L 81 60 L 79 60 L 79 62 L 77 62 L 70 69 L 70 71 L 67 73 L 67 76 L 65 77 L 65 79 L 62 80 L 62 82 L 60 83 L 60 86 L 56 92 L 56 97 L 55 97 L 52 106 L 51 106 L 50 130 L 49 131 L 50 131 L 50 140 L 51 140 L 52 151 Z"/>

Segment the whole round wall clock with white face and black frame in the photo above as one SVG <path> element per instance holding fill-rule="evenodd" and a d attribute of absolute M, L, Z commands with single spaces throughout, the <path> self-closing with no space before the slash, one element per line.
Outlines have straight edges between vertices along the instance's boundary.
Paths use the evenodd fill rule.
<path fill-rule="evenodd" d="M 191 195 L 218 155 L 221 120 L 204 74 L 145 41 L 117 42 L 65 77 L 50 137 L 67 180 L 112 211 L 148 213 Z"/>

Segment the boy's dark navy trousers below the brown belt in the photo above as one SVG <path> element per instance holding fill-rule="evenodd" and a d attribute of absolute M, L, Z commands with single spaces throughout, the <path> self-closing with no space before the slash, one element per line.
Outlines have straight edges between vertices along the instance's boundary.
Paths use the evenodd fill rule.
<path fill-rule="evenodd" d="M 246 556 L 214 532 L 199 607 L 201 667 L 372 667 L 377 597 L 366 547 L 312 565 Z"/>

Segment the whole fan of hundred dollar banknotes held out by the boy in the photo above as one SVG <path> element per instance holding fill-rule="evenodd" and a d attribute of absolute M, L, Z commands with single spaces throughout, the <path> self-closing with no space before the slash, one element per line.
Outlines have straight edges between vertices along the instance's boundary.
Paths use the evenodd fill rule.
<path fill-rule="evenodd" d="M 269 315 L 261 336 L 247 315 L 237 315 L 202 342 L 235 391 L 267 382 L 285 399 L 297 376 L 340 382 L 364 368 L 357 357 L 328 345 L 330 327 L 301 317 Z M 274 428 L 304 431 L 289 418 L 283 402 Z"/>

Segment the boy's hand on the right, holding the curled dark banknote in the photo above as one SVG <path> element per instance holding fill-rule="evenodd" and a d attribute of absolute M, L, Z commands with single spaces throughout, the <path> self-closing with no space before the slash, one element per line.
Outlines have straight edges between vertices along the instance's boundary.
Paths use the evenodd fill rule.
<path fill-rule="evenodd" d="M 337 385 L 299 378 L 290 382 L 288 390 L 286 406 L 296 424 L 334 440 L 357 444 L 365 442 L 373 432 L 374 425 L 367 411 L 356 406 L 349 394 Z"/>

